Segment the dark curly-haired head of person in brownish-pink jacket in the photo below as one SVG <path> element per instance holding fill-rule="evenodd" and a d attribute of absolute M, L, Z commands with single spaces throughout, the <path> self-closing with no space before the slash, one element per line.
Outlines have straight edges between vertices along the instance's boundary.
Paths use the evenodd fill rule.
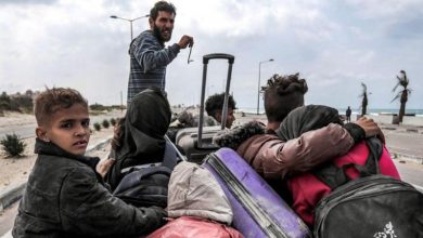
<path fill-rule="evenodd" d="M 287 76 L 273 75 L 265 91 L 265 110 L 268 121 L 282 121 L 287 114 L 304 105 L 304 94 L 308 91 L 299 72 Z"/>

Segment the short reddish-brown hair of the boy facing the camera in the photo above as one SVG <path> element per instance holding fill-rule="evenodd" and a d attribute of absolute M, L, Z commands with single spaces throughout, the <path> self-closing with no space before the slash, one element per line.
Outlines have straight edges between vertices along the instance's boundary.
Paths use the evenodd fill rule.
<path fill-rule="evenodd" d="M 44 92 L 36 96 L 34 103 L 34 114 L 38 125 L 46 124 L 50 116 L 61 109 L 66 109 L 75 104 L 80 104 L 88 109 L 87 100 L 82 95 L 69 88 L 47 88 Z"/>

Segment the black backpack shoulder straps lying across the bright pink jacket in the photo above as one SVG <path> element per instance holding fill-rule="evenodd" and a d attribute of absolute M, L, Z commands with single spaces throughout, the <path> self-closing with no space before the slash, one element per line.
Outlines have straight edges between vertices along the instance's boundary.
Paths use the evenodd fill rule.
<path fill-rule="evenodd" d="M 379 174 L 379 160 L 381 159 L 383 153 L 383 144 L 381 140 L 375 137 L 367 138 L 364 142 L 369 148 L 369 156 L 366 159 L 364 166 L 348 163 L 339 168 L 333 162 L 328 162 L 311 171 L 312 174 L 326 184 L 332 190 L 350 181 L 346 174 L 346 170 L 348 168 L 355 167 L 360 173 L 360 177 Z"/>

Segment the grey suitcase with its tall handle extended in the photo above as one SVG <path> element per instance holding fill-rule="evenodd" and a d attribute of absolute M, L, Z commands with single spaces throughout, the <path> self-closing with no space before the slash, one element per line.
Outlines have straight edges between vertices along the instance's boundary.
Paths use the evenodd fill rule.
<path fill-rule="evenodd" d="M 204 101 L 205 101 L 205 91 L 206 91 L 206 78 L 207 78 L 207 65 L 210 60 L 227 60 L 228 67 L 228 77 L 227 85 L 225 91 L 225 102 L 222 106 L 222 123 L 219 127 L 203 127 L 204 122 Z M 176 135 L 176 144 L 181 147 L 187 156 L 188 161 L 201 163 L 202 160 L 210 153 L 216 151 L 219 147 L 213 144 L 213 136 L 223 130 L 226 127 L 226 121 L 228 117 L 228 98 L 229 98 L 229 89 L 231 84 L 231 75 L 232 75 L 232 65 L 235 57 L 230 54 L 216 53 L 207 54 L 203 56 L 203 82 L 202 82 L 202 95 L 201 95 L 201 106 L 200 106 L 200 122 L 198 128 L 188 128 L 181 129 Z"/>

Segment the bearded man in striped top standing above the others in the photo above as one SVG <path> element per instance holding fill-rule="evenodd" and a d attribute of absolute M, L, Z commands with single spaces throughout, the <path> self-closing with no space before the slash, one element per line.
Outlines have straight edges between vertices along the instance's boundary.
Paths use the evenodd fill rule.
<path fill-rule="evenodd" d="M 194 40 L 184 35 L 178 43 L 165 48 L 171 38 L 176 8 L 166 1 L 158 1 L 150 11 L 150 29 L 141 32 L 129 45 L 130 74 L 128 105 L 136 94 L 157 87 L 165 92 L 166 67 L 181 49 L 192 47 Z"/>

